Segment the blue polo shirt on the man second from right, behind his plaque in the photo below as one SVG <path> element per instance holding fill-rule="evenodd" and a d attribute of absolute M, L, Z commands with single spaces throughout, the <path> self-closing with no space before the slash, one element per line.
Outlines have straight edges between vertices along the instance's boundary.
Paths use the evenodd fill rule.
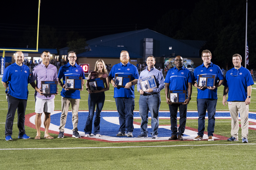
<path fill-rule="evenodd" d="M 214 85 L 218 82 L 218 80 L 223 80 L 224 76 L 220 67 L 211 63 L 208 68 L 204 66 L 204 63 L 194 70 L 194 78 L 193 80 L 198 80 L 199 75 L 215 75 Z M 198 84 L 198 81 L 197 81 Z M 197 89 L 197 99 L 218 99 L 217 96 L 217 88 L 214 90 L 210 90 L 207 88 L 203 88 L 202 90 Z"/>

